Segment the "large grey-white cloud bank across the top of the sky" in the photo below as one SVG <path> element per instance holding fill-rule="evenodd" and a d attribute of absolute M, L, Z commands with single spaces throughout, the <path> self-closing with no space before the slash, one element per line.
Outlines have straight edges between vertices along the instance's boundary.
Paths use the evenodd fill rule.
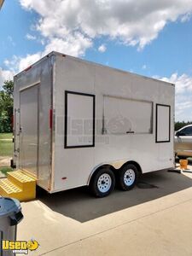
<path fill-rule="evenodd" d="M 79 32 L 89 42 L 108 36 L 143 49 L 168 22 L 189 20 L 192 12 L 189 0 L 20 0 L 20 4 L 40 15 L 36 29 L 50 40 L 50 46 L 54 39 L 67 44 L 68 36 L 75 41 Z M 90 46 L 80 44 L 78 54 L 83 55 Z"/>

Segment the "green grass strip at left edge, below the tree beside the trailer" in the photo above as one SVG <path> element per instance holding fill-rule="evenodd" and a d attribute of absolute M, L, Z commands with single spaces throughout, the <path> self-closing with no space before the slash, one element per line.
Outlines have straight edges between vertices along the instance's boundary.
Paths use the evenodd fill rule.
<path fill-rule="evenodd" d="M 0 156 L 12 156 L 12 133 L 0 133 Z"/>

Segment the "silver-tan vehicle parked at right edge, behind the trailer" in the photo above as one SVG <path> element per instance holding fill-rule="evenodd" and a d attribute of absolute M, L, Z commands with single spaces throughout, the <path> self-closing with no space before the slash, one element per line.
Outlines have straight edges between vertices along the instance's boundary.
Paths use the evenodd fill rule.
<path fill-rule="evenodd" d="M 186 125 L 176 132 L 175 152 L 178 158 L 192 157 L 192 125 Z"/>

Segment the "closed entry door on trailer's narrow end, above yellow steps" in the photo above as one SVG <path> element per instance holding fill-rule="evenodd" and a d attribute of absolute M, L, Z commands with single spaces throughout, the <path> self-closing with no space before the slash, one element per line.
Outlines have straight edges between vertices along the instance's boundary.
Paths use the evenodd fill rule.
<path fill-rule="evenodd" d="M 20 169 L 38 176 L 38 85 L 20 91 Z"/>

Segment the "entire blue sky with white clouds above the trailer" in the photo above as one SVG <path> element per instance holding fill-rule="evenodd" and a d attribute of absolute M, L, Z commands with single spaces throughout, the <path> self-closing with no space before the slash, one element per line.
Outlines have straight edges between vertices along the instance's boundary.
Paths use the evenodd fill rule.
<path fill-rule="evenodd" d="M 176 119 L 192 120 L 192 3 L 172 2 L 5 0 L 0 85 L 58 50 L 176 83 Z"/>

